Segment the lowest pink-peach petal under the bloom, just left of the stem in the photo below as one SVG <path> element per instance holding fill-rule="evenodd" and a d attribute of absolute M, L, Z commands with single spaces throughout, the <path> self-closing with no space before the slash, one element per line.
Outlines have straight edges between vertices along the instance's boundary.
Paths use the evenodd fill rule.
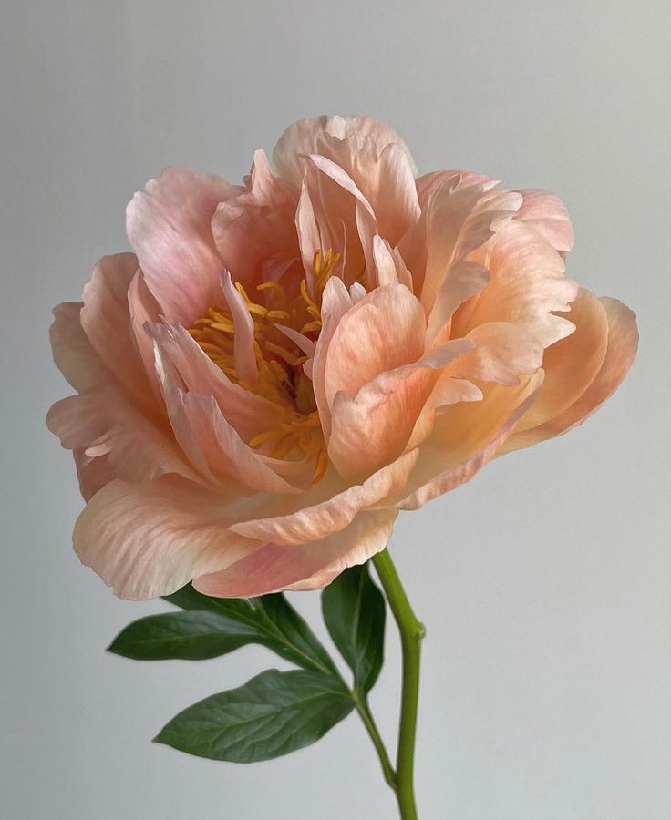
<path fill-rule="evenodd" d="M 396 510 L 371 510 L 360 513 L 345 529 L 309 544 L 266 544 L 228 569 L 195 579 L 193 586 L 220 598 L 325 586 L 347 567 L 363 564 L 384 549 L 396 517 Z"/>

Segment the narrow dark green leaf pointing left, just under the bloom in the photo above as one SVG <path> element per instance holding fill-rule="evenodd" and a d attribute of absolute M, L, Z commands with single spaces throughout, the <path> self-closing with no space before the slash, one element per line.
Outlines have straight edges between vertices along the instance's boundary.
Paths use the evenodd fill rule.
<path fill-rule="evenodd" d="M 253 627 L 216 612 L 166 612 L 134 621 L 108 651 L 134 661 L 202 661 L 258 641 Z"/>

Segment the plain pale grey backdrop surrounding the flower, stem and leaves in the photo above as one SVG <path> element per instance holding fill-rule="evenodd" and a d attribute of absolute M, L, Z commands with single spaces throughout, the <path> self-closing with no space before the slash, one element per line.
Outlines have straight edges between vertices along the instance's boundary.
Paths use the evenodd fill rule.
<path fill-rule="evenodd" d="M 115 600 L 69 548 L 81 507 L 43 425 L 67 395 L 53 304 L 127 247 L 170 163 L 240 179 L 291 121 L 367 113 L 420 169 L 542 186 L 569 271 L 633 306 L 642 349 L 570 436 L 404 514 L 392 549 L 428 623 L 422 818 L 664 820 L 669 794 L 669 20 L 664 2 L 2 4 L 2 806 L 7 818 L 392 818 L 354 717 L 269 764 L 150 743 L 183 706 L 275 663 L 104 652 L 161 601 Z M 316 615 L 316 595 L 298 605 Z M 397 636 L 374 692 L 393 739 Z"/>

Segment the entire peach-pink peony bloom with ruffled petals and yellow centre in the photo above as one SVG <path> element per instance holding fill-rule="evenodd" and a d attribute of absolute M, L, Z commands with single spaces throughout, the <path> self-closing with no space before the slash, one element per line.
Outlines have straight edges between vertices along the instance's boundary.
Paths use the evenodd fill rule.
<path fill-rule="evenodd" d="M 288 128 L 243 186 L 151 180 L 135 252 L 52 326 L 79 558 L 122 598 L 314 589 L 400 509 L 593 413 L 635 316 L 564 275 L 557 197 L 495 186 L 417 178 L 391 128 L 340 117 Z"/>

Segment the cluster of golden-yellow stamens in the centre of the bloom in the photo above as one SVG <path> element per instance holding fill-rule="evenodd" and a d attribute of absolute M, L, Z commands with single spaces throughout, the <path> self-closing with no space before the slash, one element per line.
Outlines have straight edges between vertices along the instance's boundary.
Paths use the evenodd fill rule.
<path fill-rule="evenodd" d="M 189 330 L 201 350 L 234 384 L 277 405 L 277 424 L 253 436 L 249 445 L 264 447 L 266 453 L 276 458 L 298 452 L 313 459 L 315 481 L 324 476 L 328 457 L 312 381 L 303 367 L 309 355 L 281 327 L 297 331 L 307 344 L 315 343 L 322 328 L 322 293 L 338 261 L 340 254 L 331 249 L 325 253 L 317 251 L 309 285 L 302 279 L 291 292 L 280 282 L 263 282 L 256 287 L 258 302 L 250 298 L 240 282 L 235 282 L 253 323 L 253 353 L 258 371 L 254 382 L 244 380 L 237 372 L 235 323 L 227 304 L 208 308 Z"/>

